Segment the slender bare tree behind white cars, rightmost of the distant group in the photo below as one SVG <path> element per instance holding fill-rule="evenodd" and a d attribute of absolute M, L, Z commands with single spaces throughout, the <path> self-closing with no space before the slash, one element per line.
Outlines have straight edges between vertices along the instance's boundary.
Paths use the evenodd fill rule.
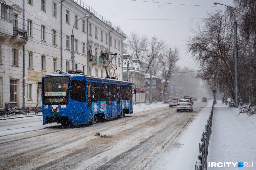
<path fill-rule="evenodd" d="M 169 48 L 168 51 L 159 56 L 159 61 L 162 64 L 162 73 L 164 79 L 163 99 L 165 99 L 166 89 L 168 86 L 168 80 L 171 78 L 171 74 L 176 72 L 179 67 L 176 65 L 179 60 L 178 48 Z"/>

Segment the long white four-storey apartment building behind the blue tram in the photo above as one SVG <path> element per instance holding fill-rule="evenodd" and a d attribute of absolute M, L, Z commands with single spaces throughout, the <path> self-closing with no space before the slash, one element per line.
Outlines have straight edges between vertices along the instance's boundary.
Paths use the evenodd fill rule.
<path fill-rule="evenodd" d="M 124 34 L 88 4 L 74 0 L 0 0 L 0 108 L 41 106 L 41 77 L 74 69 L 105 77 L 102 52 L 117 55 L 122 78 Z M 87 17 L 85 17 L 88 15 Z M 108 73 L 114 73 L 107 67 Z"/>

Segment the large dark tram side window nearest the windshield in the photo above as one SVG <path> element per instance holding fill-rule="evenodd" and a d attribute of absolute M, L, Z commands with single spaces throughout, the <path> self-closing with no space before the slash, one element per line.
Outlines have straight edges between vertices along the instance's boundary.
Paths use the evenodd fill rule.
<path fill-rule="evenodd" d="M 70 90 L 70 99 L 73 99 L 79 102 L 86 102 L 85 81 L 72 80 L 71 90 Z"/>

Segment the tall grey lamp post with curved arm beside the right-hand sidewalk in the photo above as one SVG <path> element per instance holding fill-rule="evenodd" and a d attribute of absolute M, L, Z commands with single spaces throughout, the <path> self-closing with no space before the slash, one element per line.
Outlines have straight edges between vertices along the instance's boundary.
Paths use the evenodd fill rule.
<path fill-rule="evenodd" d="M 220 4 L 218 2 L 214 2 L 214 5 L 224 5 L 224 4 Z M 235 19 L 235 13 L 234 11 L 227 5 L 224 5 L 226 7 L 228 7 L 234 14 L 234 19 Z M 234 66 L 235 66 L 235 108 L 238 108 L 238 71 L 237 71 L 237 21 L 236 19 L 233 22 L 233 26 L 234 26 L 234 50 L 235 50 L 235 55 L 234 55 Z"/>

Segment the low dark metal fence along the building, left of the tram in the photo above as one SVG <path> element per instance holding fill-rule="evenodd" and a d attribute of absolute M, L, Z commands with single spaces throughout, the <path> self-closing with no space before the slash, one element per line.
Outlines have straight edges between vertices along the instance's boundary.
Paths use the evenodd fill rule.
<path fill-rule="evenodd" d="M 17 116 L 17 115 L 42 114 L 41 107 L 15 107 L 9 109 L 0 109 L 1 117 Z"/>

